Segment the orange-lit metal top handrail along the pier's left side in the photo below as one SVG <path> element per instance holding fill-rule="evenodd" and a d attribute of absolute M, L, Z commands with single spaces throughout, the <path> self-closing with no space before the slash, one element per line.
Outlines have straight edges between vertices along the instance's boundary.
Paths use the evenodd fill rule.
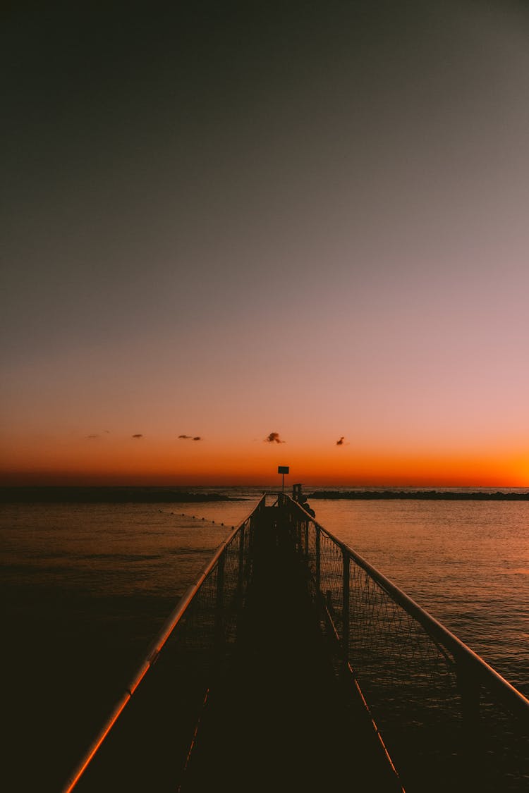
<path fill-rule="evenodd" d="M 67 780 L 67 783 L 64 785 L 62 789 L 62 793 L 71 793 L 74 789 L 75 785 L 79 782 L 82 775 L 88 768 L 91 761 L 94 759 L 95 754 L 98 752 L 98 749 L 101 747 L 103 741 L 108 736 L 110 730 L 112 730 L 114 724 L 117 722 L 117 719 L 120 717 L 121 713 L 124 711 L 125 706 L 128 704 L 132 695 L 136 691 L 136 688 L 140 685 L 141 681 L 144 679 L 144 676 L 147 674 L 151 666 L 155 663 L 157 657 L 159 656 L 160 650 L 163 648 L 167 639 L 171 636 L 174 628 L 178 625 L 182 616 L 185 614 L 188 607 L 194 600 L 194 597 L 199 592 L 202 584 L 209 577 L 209 574 L 218 564 L 220 557 L 224 554 L 224 550 L 227 546 L 232 542 L 232 539 L 239 533 L 241 527 L 243 527 L 250 519 L 251 516 L 254 515 L 256 512 L 262 508 L 266 501 L 266 494 L 263 495 L 259 502 L 255 505 L 255 507 L 248 513 L 246 518 L 244 518 L 239 525 L 233 529 L 231 534 L 228 535 L 223 542 L 220 543 L 218 546 L 215 554 L 205 566 L 205 569 L 202 570 L 201 573 L 197 576 L 197 579 L 194 581 L 194 584 L 191 584 L 190 587 L 186 589 L 186 592 L 182 595 L 174 610 L 171 611 L 171 614 L 167 617 L 165 623 L 159 630 L 158 634 L 156 634 L 155 639 L 151 642 L 149 646 L 148 652 L 144 657 L 144 660 L 141 661 L 140 666 L 137 668 L 136 673 L 132 676 L 132 680 L 128 684 L 127 688 L 125 688 L 125 693 L 121 696 L 113 707 L 113 711 L 109 714 L 109 717 L 106 719 L 105 724 L 102 726 L 102 729 L 99 731 L 98 735 L 94 738 L 94 741 L 90 744 L 89 749 L 86 750 L 86 753 L 82 757 L 82 760 L 76 766 L 75 771 L 71 774 L 70 778 Z"/>

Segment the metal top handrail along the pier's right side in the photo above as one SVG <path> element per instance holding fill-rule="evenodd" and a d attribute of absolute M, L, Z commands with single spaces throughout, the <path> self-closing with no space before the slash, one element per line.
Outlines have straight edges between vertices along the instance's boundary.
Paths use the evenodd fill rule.
<path fill-rule="evenodd" d="M 429 634 L 435 642 L 439 642 L 439 644 L 450 650 L 450 653 L 454 655 L 458 663 L 466 665 L 466 671 L 470 673 L 475 672 L 481 683 L 489 686 L 490 690 L 500 697 L 504 706 L 513 714 L 526 721 L 529 726 L 529 699 L 527 699 L 521 691 L 518 691 L 518 689 L 509 683 L 508 680 L 505 680 L 499 672 L 496 672 L 496 669 L 477 655 L 473 649 L 470 649 L 469 646 L 451 633 L 442 623 L 439 623 L 439 620 L 432 617 L 432 615 L 424 608 L 420 607 L 415 600 L 412 600 L 411 597 L 406 595 L 405 592 L 397 587 L 397 584 L 393 584 L 393 581 L 385 577 L 385 575 L 380 573 L 373 565 L 370 565 L 370 562 L 366 561 L 364 557 L 337 538 L 335 534 L 325 529 L 312 517 L 312 515 L 309 515 L 309 512 L 301 507 L 301 504 L 298 504 L 297 501 L 294 501 L 293 498 L 286 493 L 282 494 L 282 497 L 288 500 L 293 508 L 297 508 L 301 511 L 304 520 L 309 520 L 313 523 L 318 531 L 325 534 L 335 545 L 339 546 L 344 554 L 347 554 L 359 567 L 365 570 L 365 572 L 373 578 L 393 600 L 404 608 L 404 611 L 424 627 L 424 630 L 426 630 L 427 634 Z"/>

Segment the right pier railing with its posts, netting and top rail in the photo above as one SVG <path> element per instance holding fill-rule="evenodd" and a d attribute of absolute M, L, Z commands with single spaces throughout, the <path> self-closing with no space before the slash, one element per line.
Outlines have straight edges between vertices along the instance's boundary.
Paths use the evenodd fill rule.
<path fill-rule="evenodd" d="M 529 789 L 529 701 L 300 504 L 279 503 L 335 672 L 365 700 L 406 790 Z"/>

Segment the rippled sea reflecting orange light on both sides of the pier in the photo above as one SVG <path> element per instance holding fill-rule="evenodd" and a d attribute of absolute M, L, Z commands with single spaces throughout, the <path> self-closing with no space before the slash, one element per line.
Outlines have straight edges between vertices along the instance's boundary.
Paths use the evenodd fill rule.
<path fill-rule="evenodd" d="M 0 504 L 2 787 L 13 793 L 59 793 L 164 619 L 271 492 L 117 490 L 11 491 Z M 354 492 L 305 488 L 318 523 L 529 696 L 529 496 L 318 497 L 329 490 Z M 215 496 L 228 500 L 197 500 Z"/>

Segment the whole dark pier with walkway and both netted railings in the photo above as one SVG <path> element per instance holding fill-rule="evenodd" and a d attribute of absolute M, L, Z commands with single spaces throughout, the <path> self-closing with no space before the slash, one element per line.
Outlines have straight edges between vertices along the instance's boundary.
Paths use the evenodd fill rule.
<path fill-rule="evenodd" d="M 529 788 L 529 700 L 301 498 L 263 495 L 63 793 Z"/>

